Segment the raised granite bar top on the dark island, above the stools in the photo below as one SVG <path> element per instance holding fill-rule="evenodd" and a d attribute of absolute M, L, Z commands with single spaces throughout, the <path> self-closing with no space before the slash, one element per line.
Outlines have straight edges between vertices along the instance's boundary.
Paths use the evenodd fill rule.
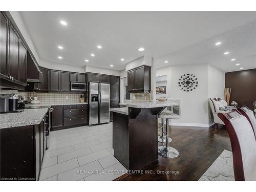
<path fill-rule="evenodd" d="M 141 101 L 128 101 L 120 103 L 120 105 L 129 106 L 130 108 L 159 108 L 162 106 L 173 106 L 178 105 L 177 102 L 173 101 L 150 101 L 150 102 L 141 102 Z"/>

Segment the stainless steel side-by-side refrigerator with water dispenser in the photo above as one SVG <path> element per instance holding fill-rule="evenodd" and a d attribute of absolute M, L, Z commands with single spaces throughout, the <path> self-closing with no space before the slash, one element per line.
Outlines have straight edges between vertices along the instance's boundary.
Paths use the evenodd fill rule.
<path fill-rule="evenodd" d="M 110 84 L 89 82 L 89 125 L 110 122 Z"/>

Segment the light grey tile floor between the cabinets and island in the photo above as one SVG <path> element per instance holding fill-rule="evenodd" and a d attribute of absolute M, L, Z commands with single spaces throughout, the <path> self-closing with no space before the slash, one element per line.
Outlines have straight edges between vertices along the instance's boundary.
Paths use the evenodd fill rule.
<path fill-rule="evenodd" d="M 126 168 L 113 157 L 112 123 L 51 132 L 41 181 L 112 181 Z"/>

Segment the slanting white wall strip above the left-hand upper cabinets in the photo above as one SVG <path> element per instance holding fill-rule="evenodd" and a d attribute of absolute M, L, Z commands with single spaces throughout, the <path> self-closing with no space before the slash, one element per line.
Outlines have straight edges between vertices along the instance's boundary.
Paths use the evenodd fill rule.
<path fill-rule="evenodd" d="M 17 25 L 19 31 L 22 33 L 24 39 L 26 40 L 31 52 L 33 53 L 36 61 L 39 63 L 39 55 L 36 51 L 34 42 L 32 38 L 30 37 L 30 34 L 27 30 L 27 27 L 25 26 L 24 20 L 22 18 L 22 15 L 20 14 L 19 11 L 9 11 L 15 24 Z"/>

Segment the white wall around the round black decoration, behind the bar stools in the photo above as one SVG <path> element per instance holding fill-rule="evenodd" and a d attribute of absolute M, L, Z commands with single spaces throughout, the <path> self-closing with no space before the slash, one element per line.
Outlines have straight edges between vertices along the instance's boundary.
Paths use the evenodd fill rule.
<path fill-rule="evenodd" d="M 196 90 L 184 92 L 178 86 L 183 74 L 194 74 L 199 84 Z M 210 65 L 177 65 L 156 70 L 156 76 L 167 75 L 166 97 L 182 98 L 182 115 L 173 125 L 209 126 L 212 122 L 209 97 L 224 97 L 225 73 Z"/>

